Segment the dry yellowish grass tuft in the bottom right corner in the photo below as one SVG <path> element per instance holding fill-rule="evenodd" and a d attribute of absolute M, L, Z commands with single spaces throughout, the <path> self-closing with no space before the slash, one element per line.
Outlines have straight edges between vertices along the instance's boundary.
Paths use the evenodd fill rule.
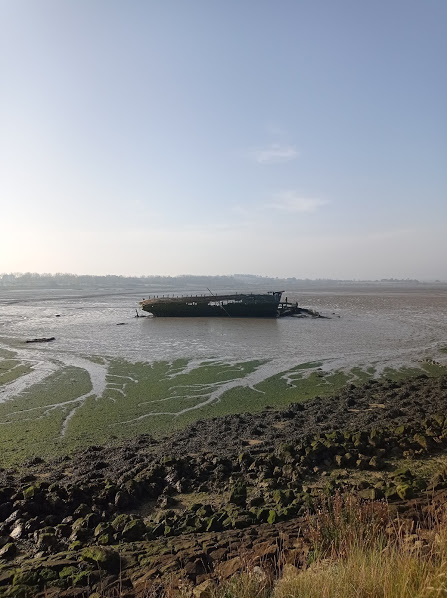
<path fill-rule="evenodd" d="M 337 495 L 309 514 L 306 535 L 312 551 L 304 570 L 287 569 L 270 591 L 247 576 L 233 579 L 213 598 L 447 597 L 445 514 L 429 530 L 413 529 L 392 521 L 386 503 Z"/>

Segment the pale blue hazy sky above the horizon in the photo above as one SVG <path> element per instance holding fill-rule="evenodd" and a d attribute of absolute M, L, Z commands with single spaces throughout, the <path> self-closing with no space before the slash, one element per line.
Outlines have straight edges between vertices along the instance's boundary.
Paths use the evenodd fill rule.
<path fill-rule="evenodd" d="M 446 0 L 0 0 L 0 272 L 447 280 Z"/>

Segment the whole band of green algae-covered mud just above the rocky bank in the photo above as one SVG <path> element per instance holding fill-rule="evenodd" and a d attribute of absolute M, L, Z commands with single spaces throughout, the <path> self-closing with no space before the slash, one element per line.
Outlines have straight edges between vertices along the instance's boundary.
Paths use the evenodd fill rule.
<path fill-rule="evenodd" d="M 100 397 L 93 394 L 86 370 L 67 366 L 0 404 L 0 464 L 62 455 L 143 433 L 159 437 L 198 419 L 327 397 L 347 384 L 357 386 L 377 377 L 373 366 L 324 371 L 322 362 L 309 362 L 249 383 L 250 375 L 266 362 L 90 361 L 105 368 Z M 430 361 L 420 368 L 385 369 L 381 376 L 403 380 L 445 372 L 444 366 Z"/>

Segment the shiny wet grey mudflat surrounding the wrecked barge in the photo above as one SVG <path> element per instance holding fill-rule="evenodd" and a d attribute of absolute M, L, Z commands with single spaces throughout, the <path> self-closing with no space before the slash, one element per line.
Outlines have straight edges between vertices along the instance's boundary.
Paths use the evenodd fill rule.
<path fill-rule="evenodd" d="M 281 359 L 350 366 L 412 360 L 447 341 L 447 293 L 440 291 L 287 293 L 289 300 L 329 317 L 318 320 L 135 318 L 141 298 L 134 294 L 42 294 L 0 295 L 0 337 L 14 339 L 22 356 L 39 361 L 103 355 L 133 362 Z M 56 341 L 24 343 L 49 336 Z"/>

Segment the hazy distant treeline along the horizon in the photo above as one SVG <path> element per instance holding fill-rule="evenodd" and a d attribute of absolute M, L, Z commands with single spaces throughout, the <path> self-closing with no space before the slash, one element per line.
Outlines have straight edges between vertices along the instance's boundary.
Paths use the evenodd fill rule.
<path fill-rule="evenodd" d="M 418 284 L 418 280 L 411 279 L 382 279 L 376 281 L 361 280 L 333 280 L 333 279 L 299 279 L 299 278 L 272 278 L 257 276 L 255 274 L 232 274 L 229 276 L 92 276 L 78 274 L 37 274 L 34 272 L 0 274 L 0 288 L 7 289 L 126 289 L 126 288 L 160 288 L 170 289 L 255 289 L 282 290 L 282 288 L 299 287 L 302 285 L 340 285 L 359 283 L 405 283 Z"/>

